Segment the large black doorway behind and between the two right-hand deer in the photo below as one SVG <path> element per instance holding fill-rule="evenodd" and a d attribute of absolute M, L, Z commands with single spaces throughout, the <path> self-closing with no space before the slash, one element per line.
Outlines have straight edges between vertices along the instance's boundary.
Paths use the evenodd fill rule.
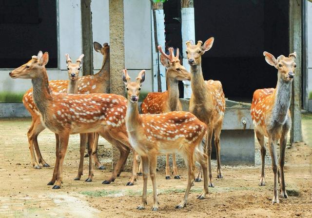
<path fill-rule="evenodd" d="M 263 52 L 289 54 L 289 0 L 195 0 L 195 37 L 215 37 L 202 56 L 205 79 L 220 80 L 226 98 L 251 102 L 275 87 L 277 71 Z"/>

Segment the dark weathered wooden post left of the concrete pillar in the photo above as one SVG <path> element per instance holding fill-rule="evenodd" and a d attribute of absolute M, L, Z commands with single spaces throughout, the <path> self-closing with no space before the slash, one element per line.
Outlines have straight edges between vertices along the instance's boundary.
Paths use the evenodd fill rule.
<path fill-rule="evenodd" d="M 91 0 L 80 0 L 80 4 L 82 53 L 84 54 L 82 75 L 93 75 Z"/>

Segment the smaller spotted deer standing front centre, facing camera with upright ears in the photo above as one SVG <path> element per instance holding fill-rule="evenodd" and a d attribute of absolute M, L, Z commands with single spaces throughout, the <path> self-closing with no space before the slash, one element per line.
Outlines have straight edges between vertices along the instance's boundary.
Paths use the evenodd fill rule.
<path fill-rule="evenodd" d="M 199 161 L 204 173 L 204 189 L 199 199 L 208 194 L 207 156 L 204 154 L 202 140 L 206 134 L 206 125 L 189 112 L 168 112 L 157 115 L 140 115 L 137 101 L 145 70 L 142 70 L 137 81 L 132 82 L 127 70 L 123 70 L 122 79 L 128 94 L 126 127 L 133 148 L 141 156 L 143 168 L 143 194 L 138 210 L 145 208 L 147 177 L 153 183 L 153 211 L 158 209 L 156 191 L 156 159 L 159 155 L 179 153 L 185 161 L 188 170 L 188 185 L 183 200 L 176 208 L 185 207 L 188 195 L 194 181 L 195 160 Z"/>

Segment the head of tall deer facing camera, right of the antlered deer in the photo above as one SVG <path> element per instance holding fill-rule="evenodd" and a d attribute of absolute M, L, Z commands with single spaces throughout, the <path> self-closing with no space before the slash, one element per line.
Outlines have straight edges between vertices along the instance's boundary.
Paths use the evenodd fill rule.
<path fill-rule="evenodd" d="M 193 41 L 187 41 L 186 44 L 186 55 L 190 65 L 201 64 L 201 56 L 211 49 L 214 44 L 215 38 L 211 37 L 205 41 L 203 44 L 202 41 L 198 41 L 195 45 Z"/>

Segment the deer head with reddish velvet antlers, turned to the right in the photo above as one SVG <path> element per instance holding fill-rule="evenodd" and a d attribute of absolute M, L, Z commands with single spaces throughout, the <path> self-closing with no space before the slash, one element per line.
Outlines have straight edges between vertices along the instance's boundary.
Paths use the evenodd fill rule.
<path fill-rule="evenodd" d="M 167 77 L 176 80 L 191 80 L 190 73 L 180 64 L 179 49 L 176 49 L 176 56 L 174 55 L 174 49 L 169 48 L 169 55 L 163 52 L 160 45 L 158 50 L 161 53 L 160 62 L 167 69 Z"/>

